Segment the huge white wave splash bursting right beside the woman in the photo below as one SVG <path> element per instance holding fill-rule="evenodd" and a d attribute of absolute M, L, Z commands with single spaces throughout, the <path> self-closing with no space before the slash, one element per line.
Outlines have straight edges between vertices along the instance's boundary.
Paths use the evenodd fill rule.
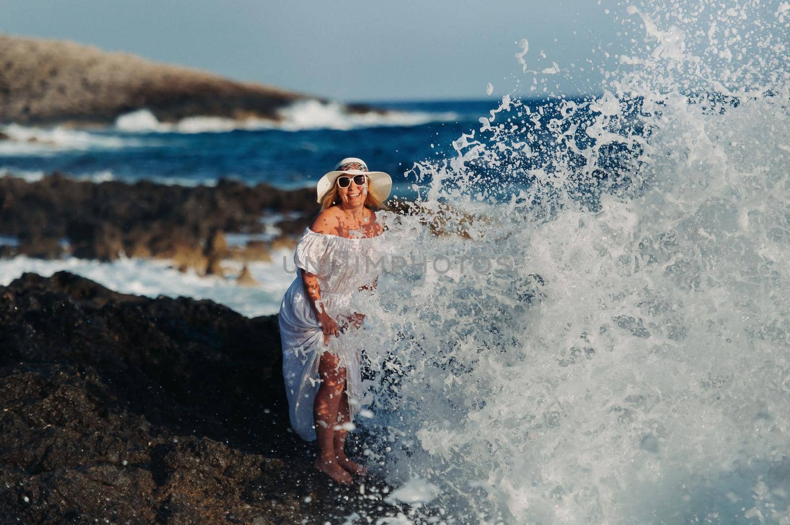
<path fill-rule="evenodd" d="M 506 97 L 415 167 L 366 453 L 436 519 L 788 523 L 786 10 L 628 7 L 603 95 Z"/>

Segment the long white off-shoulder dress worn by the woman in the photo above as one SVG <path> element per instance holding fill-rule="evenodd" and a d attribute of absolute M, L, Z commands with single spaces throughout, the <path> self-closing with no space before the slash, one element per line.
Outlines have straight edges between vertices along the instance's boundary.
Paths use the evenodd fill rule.
<path fill-rule="evenodd" d="M 371 285 L 382 269 L 384 235 L 346 238 L 304 230 L 296 245 L 294 262 L 296 278 L 280 303 L 280 339 L 283 346 L 283 377 L 291 426 L 299 437 L 314 441 L 313 401 L 320 385 L 318 362 L 324 352 L 332 352 L 346 369 L 346 393 L 352 418 L 362 398 L 360 351 L 352 338 L 330 337 L 324 344 L 324 333 L 318 324 L 310 298 L 304 289 L 303 270 L 318 278 L 325 310 L 342 326 L 359 307 L 361 296 L 371 295 Z M 364 311 L 359 311 L 364 313 Z M 354 330 L 354 329 L 351 329 Z M 344 338 L 346 341 L 344 341 Z"/>

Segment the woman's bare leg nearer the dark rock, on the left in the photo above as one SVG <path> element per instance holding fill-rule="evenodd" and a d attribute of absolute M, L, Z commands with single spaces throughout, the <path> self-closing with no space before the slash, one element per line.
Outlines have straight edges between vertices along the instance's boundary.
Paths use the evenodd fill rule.
<path fill-rule="evenodd" d="M 352 482 L 351 475 L 338 464 L 334 445 L 340 400 L 345 397 L 345 368 L 340 367 L 337 356 L 324 352 L 318 363 L 318 375 L 321 377 L 321 386 L 313 404 L 315 435 L 318 438 L 315 466 L 336 482 L 348 485 Z"/>

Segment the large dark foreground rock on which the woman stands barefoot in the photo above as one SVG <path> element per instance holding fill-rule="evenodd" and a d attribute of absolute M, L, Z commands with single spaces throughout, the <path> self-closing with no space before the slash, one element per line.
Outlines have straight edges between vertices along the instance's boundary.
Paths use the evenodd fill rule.
<path fill-rule="evenodd" d="M 311 474 L 274 316 L 24 274 L 0 287 L 0 348 L 0 523 L 382 515 L 375 489 Z"/>

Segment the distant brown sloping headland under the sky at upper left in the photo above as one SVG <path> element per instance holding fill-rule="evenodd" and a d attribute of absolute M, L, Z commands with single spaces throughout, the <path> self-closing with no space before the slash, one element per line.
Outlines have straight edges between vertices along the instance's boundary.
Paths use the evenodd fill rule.
<path fill-rule="evenodd" d="M 131 54 L 0 35 L 0 122 L 109 124 L 141 108 L 165 122 L 276 118 L 281 107 L 309 98 Z"/>

